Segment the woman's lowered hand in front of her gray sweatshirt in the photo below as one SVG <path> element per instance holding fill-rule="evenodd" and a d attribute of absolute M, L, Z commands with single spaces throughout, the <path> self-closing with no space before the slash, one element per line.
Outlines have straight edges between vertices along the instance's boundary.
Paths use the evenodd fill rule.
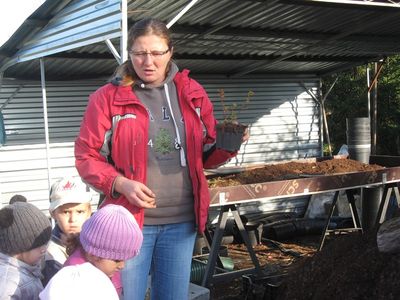
<path fill-rule="evenodd" d="M 155 208 L 156 195 L 143 183 L 118 176 L 114 190 L 128 199 L 129 203 L 141 208 Z"/>

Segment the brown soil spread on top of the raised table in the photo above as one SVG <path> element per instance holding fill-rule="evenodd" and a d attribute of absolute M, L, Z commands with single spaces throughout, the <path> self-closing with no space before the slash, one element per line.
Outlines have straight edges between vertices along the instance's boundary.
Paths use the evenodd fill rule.
<path fill-rule="evenodd" d="M 210 188 L 236 186 L 268 181 L 298 178 L 301 175 L 328 175 L 349 172 L 366 172 L 383 169 L 379 165 L 364 164 L 352 159 L 329 159 L 320 162 L 298 162 L 270 164 L 260 168 L 225 176 L 214 176 L 208 180 Z"/>

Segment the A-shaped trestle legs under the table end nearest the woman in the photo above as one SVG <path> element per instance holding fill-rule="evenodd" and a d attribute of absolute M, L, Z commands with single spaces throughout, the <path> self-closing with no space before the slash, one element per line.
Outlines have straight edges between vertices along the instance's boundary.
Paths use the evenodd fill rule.
<path fill-rule="evenodd" d="M 240 234 L 241 234 L 243 241 L 247 247 L 247 251 L 251 257 L 254 268 L 215 274 L 215 270 L 216 270 L 215 264 L 217 263 L 217 261 L 218 261 L 218 265 L 220 264 L 218 252 L 219 252 L 219 249 L 221 246 L 222 237 L 224 235 L 229 211 L 232 212 L 232 215 L 235 219 L 236 225 L 240 230 Z M 211 235 L 209 233 L 206 234 L 206 238 L 208 240 L 208 243 L 211 245 L 211 249 L 210 249 L 210 254 L 208 257 L 206 271 L 204 273 L 203 281 L 201 284 L 202 286 L 208 287 L 211 282 L 216 282 L 218 280 L 222 281 L 222 279 L 230 280 L 231 278 L 237 278 L 243 274 L 252 274 L 252 273 L 261 274 L 262 273 L 260 263 L 257 259 L 257 256 L 256 256 L 254 250 L 253 250 L 249 236 L 248 236 L 246 229 L 244 228 L 243 222 L 239 216 L 239 212 L 236 209 L 236 205 L 232 204 L 232 205 L 221 206 L 221 210 L 220 210 L 220 213 L 218 216 L 218 223 L 217 223 L 214 235 L 212 237 L 212 240 L 211 240 Z M 222 263 L 221 263 L 221 266 L 222 266 Z"/>

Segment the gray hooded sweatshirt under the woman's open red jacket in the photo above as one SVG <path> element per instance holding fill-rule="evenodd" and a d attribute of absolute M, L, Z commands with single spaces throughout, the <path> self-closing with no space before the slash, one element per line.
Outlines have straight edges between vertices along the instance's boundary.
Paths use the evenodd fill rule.
<path fill-rule="evenodd" d="M 137 97 L 147 108 L 150 117 L 146 184 L 156 194 L 157 208 L 145 210 L 146 225 L 194 220 L 189 170 L 187 166 L 182 166 L 180 151 L 175 145 L 178 130 L 180 146 L 186 153 L 184 121 L 173 82 L 177 72 L 178 67 L 172 63 L 167 78 L 159 86 L 146 85 L 140 80 L 134 86 Z"/>

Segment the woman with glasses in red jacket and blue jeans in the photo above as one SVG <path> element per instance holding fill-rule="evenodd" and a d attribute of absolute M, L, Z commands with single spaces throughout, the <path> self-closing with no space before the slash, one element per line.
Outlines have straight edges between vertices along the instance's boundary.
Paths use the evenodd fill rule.
<path fill-rule="evenodd" d="M 102 205 L 127 208 L 143 226 L 139 256 L 123 271 L 124 299 L 187 299 L 197 232 L 207 221 L 203 168 L 236 153 L 215 148 L 213 107 L 203 87 L 178 71 L 164 23 L 137 22 L 129 60 L 90 96 L 75 142 L 81 177 L 102 191 Z M 244 138 L 246 140 L 248 136 Z"/>

